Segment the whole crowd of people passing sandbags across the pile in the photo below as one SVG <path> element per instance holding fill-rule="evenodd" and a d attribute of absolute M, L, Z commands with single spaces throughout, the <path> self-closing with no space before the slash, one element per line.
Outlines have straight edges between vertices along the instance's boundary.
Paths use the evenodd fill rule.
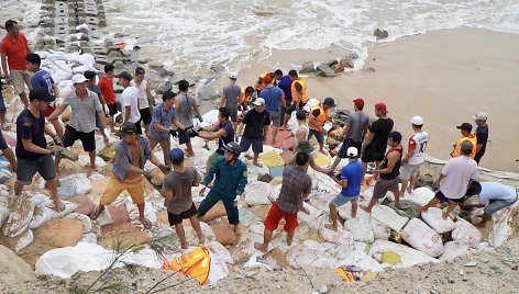
<path fill-rule="evenodd" d="M 106 143 L 108 133 L 117 134 L 121 139 L 115 145 L 112 159 L 113 169 L 109 184 L 100 203 L 91 214 L 96 219 L 107 205 L 110 205 L 123 191 L 126 191 L 137 206 L 140 219 L 145 228 L 152 223 L 144 215 L 145 195 L 143 178 L 161 191 L 168 211 L 169 224 L 180 239 L 181 247 L 187 248 L 183 219 L 189 219 L 198 234 L 200 242 L 205 236 L 198 218 L 202 217 L 219 201 L 223 202 L 229 223 L 240 235 L 240 219 L 236 201 L 243 195 L 247 182 L 246 163 L 241 159 L 242 152 L 252 148 L 252 162 L 262 167 L 258 160 L 265 144 L 275 145 L 280 129 L 289 129 L 290 117 L 297 121 L 297 127 L 289 129 L 294 135 L 294 158 L 283 172 L 279 197 L 265 219 L 263 244 L 255 244 L 262 251 L 268 250 L 273 231 L 281 218 L 285 218 L 287 242 L 291 245 L 294 233 L 298 226 L 297 213 L 309 213 L 303 202 L 311 189 L 311 178 L 307 174 L 311 167 L 318 172 L 329 174 L 342 188 L 341 193 L 330 203 L 331 224 L 327 228 L 338 229 L 338 207 L 352 203 L 352 217 L 356 216 L 361 185 L 371 163 L 374 163 L 373 197 L 367 206 L 361 208 L 369 213 L 388 191 L 395 195 L 395 205 L 406 194 L 412 193 L 419 176 L 424 154 L 430 140 L 423 129 L 424 120 L 413 116 L 409 128 L 413 134 L 402 145 L 402 135 L 394 131 L 394 121 L 388 116 L 385 103 L 376 103 L 375 121 L 371 121 L 364 112 L 365 101 L 355 99 L 347 122 L 339 129 L 342 146 L 330 167 L 321 167 L 314 162 L 318 152 L 328 155 L 325 137 L 329 129 L 325 124 L 331 120 L 331 110 L 335 106 L 333 98 L 305 110 L 309 103 L 308 84 L 297 70 L 291 69 L 284 75 L 280 69 L 258 76 L 254 86 L 240 87 L 238 74 L 229 75 L 229 84 L 222 90 L 218 122 L 213 125 L 199 127 L 194 122 L 202 122 L 198 100 L 189 92 L 189 82 L 178 81 L 178 91 L 166 91 L 162 102 L 157 103 L 151 84 L 145 79 L 144 68 L 137 67 L 133 75 L 121 71 L 115 75 L 114 67 L 107 65 L 103 76 L 98 80 L 93 71 L 74 75 L 73 91 L 63 98 L 59 105 L 59 89 L 52 76 L 41 68 L 41 57 L 31 52 L 27 39 L 20 33 L 15 21 L 7 21 L 7 35 L 1 41 L 1 65 L 3 78 L 11 83 L 14 94 L 20 97 L 25 109 L 16 120 L 15 155 L 5 144 L 0 132 L 0 149 L 16 173 L 14 193 L 20 195 L 24 185 L 31 184 L 37 172 L 46 181 L 46 186 L 54 200 L 57 211 L 64 210 L 57 194 L 57 167 L 62 158 L 69 158 L 68 147 L 80 142 L 90 157 L 90 169 L 96 169 L 96 133 L 102 135 Z M 123 88 L 118 99 L 114 82 Z M 26 92 L 29 89 L 29 95 Z M 119 105 L 118 105 L 119 104 Z M 70 108 L 70 117 L 65 127 L 60 116 Z M 292 113 L 295 114 L 292 115 Z M 122 125 L 118 126 L 114 117 L 121 113 Z M 4 122 L 5 106 L 0 97 L 0 123 Z M 499 183 L 478 183 L 475 181 L 477 163 L 485 155 L 488 142 L 487 115 L 478 112 L 473 117 L 477 125 L 472 133 L 471 123 L 463 123 L 457 128 L 461 137 L 453 146 L 452 159 L 445 165 L 434 185 L 438 192 L 433 200 L 420 207 L 427 210 L 438 202 L 448 202 L 443 217 L 456 206 L 464 205 L 467 197 L 478 195 L 485 206 L 479 226 L 484 226 L 492 215 L 503 207 L 517 201 L 514 188 Z M 272 140 L 267 142 L 267 135 Z M 53 138 L 54 147 L 47 146 L 45 135 Z M 216 152 L 207 159 L 206 174 L 202 177 L 194 168 L 186 167 L 185 160 L 195 156 L 191 138 L 218 140 Z M 185 149 L 173 148 L 172 139 L 177 138 Z M 310 144 L 316 140 L 317 150 Z M 159 145 L 164 152 L 164 161 L 155 157 L 153 149 Z M 347 165 L 341 167 L 335 177 L 333 171 L 342 159 Z M 164 174 L 162 184 L 153 181 L 155 177 L 144 169 L 146 161 L 155 165 Z M 212 184 L 211 184 L 212 183 Z M 209 193 L 197 208 L 192 202 L 191 186 L 201 186 Z"/>

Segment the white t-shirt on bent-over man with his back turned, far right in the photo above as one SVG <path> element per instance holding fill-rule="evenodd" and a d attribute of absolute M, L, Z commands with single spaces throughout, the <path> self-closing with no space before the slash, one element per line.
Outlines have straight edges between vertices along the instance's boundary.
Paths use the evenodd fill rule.
<path fill-rule="evenodd" d="M 477 163 L 468 156 L 452 158 L 443 167 L 442 174 L 445 176 L 440 191 L 448 199 L 461 199 L 465 196 L 468 181 L 476 178 Z"/>

